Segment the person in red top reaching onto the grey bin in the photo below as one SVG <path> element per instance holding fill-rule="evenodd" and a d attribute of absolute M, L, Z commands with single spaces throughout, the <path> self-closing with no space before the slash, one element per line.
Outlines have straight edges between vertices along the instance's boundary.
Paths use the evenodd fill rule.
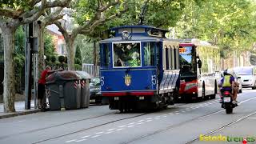
<path fill-rule="evenodd" d="M 62 70 L 62 69 L 60 69 Z M 46 77 L 60 70 L 51 70 L 50 66 L 46 66 L 46 70 L 42 71 L 41 78 L 38 80 L 38 108 L 46 109 Z"/>

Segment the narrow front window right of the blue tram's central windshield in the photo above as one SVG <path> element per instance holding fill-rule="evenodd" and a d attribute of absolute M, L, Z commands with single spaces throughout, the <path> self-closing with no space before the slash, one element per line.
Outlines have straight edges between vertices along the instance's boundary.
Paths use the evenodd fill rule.
<path fill-rule="evenodd" d="M 155 66 L 155 47 L 154 42 L 145 42 L 144 66 Z"/>

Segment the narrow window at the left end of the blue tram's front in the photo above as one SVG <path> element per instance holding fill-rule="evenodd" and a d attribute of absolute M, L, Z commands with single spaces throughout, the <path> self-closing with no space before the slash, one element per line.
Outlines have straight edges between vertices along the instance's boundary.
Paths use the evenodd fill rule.
<path fill-rule="evenodd" d="M 102 44 L 102 66 L 110 66 L 110 45 L 108 43 Z"/>

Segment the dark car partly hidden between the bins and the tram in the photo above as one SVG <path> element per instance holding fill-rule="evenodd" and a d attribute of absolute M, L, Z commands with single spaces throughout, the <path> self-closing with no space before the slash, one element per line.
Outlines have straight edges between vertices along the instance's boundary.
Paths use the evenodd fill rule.
<path fill-rule="evenodd" d="M 108 99 L 102 97 L 100 78 L 90 78 L 90 103 L 108 104 Z"/>

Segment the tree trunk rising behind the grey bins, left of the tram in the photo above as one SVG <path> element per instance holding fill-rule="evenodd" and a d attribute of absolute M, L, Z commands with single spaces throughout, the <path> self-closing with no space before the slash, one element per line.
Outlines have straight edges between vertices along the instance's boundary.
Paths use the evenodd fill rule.
<path fill-rule="evenodd" d="M 74 40 L 70 39 L 66 41 L 66 50 L 67 50 L 67 66 L 68 70 L 74 70 Z"/>

